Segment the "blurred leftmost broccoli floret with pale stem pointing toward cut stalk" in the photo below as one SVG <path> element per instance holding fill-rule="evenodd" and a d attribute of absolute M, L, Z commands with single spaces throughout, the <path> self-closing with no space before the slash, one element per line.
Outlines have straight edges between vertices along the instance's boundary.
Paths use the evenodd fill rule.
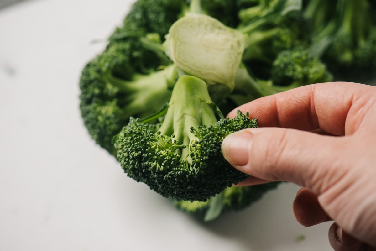
<path fill-rule="evenodd" d="M 173 66 L 156 71 L 161 62 L 139 39 L 132 38 L 110 43 L 83 68 L 82 118 L 91 137 L 109 153 L 114 154 L 112 137 L 130 116 L 149 115 L 170 99 L 169 86 L 175 83 L 177 71 Z"/>

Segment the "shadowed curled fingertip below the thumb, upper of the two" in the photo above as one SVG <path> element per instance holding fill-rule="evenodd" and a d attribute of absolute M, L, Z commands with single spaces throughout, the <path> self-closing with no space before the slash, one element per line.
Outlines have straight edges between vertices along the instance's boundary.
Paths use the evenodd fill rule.
<path fill-rule="evenodd" d="M 331 220 L 318 203 L 317 195 L 305 187 L 297 192 L 293 211 L 297 221 L 305 227 Z"/>

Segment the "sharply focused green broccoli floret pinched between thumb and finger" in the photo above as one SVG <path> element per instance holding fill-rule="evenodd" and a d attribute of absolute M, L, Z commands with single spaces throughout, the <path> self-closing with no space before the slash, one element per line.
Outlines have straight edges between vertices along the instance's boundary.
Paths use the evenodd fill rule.
<path fill-rule="evenodd" d="M 132 118 L 118 135 L 115 147 L 124 172 L 175 200 L 206 201 L 244 180 L 247 175 L 222 156 L 221 142 L 257 122 L 248 114 L 238 113 L 234 119 L 220 119 L 218 114 L 203 80 L 180 77 L 158 131 Z"/>

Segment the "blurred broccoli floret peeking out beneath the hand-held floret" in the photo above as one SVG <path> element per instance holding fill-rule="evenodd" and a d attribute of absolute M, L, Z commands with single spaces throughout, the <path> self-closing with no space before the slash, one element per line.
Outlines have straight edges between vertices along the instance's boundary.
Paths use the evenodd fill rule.
<path fill-rule="evenodd" d="M 174 204 L 180 210 L 199 219 L 212 221 L 221 213 L 250 206 L 262 198 L 267 191 L 277 188 L 279 184 L 279 182 L 271 182 L 255 186 L 231 186 L 206 201 L 174 201 Z"/>

